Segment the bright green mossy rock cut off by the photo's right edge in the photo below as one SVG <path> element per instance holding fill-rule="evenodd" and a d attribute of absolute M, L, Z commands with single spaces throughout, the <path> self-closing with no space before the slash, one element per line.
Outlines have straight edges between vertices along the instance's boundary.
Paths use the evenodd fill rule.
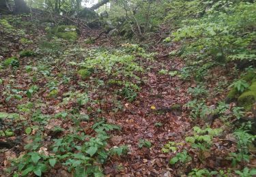
<path fill-rule="evenodd" d="M 248 90 L 238 97 L 238 106 L 244 107 L 246 111 L 251 111 L 256 102 L 256 82 L 249 86 Z"/>

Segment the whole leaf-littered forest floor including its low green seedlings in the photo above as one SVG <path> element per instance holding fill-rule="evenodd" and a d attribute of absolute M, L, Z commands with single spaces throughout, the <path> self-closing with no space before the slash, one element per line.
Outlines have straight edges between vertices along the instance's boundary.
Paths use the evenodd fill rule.
<path fill-rule="evenodd" d="M 225 135 L 222 137 L 223 141 L 219 137 L 213 138 L 212 148 L 203 152 L 203 160 L 199 159 L 199 153 L 185 141 L 186 136 L 193 135 L 195 125 L 203 124 L 200 120 L 192 120 L 184 106 L 191 99 L 188 87 L 195 87 L 195 81 L 185 82 L 178 76 L 170 76 L 164 72 L 180 71 L 185 66 L 179 57 L 168 56 L 180 47 L 178 44 L 157 44 L 159 39 L 155 34 L 151 38 L 155 43 L 145 45 L 149 47 L 141 54 L 142 49 L 130 48 L 131 44 L 122 44 L 115 37 L 102 36 L 94 44 L 85 44 L 83 34 L 89 32 L 81 31 L 81 37 L 74 43 L 59 39 L 50 41 L 46 39 L 42 27 L 31 28 L 30 23 L 21 27 L 27 30 L 26 35 L 18 36 L 16 30 L 20 27 L 14 27 L 14 33 L 8 33 L 1 41 L 3 60 L 16 56 L 19 61 L 18 67 L 3 67 L 0 74 L 0 116 L 5 118 L 1 122 L 5 133 L 1 132 L 0 141 L 12 142 L 8 145 L 1 144 L 0 174 L 3 176 L 12 176 L 14 171 L 23 173 L 26 168 L 29 169 L 30 156 L 22 157 L 28 152 L 35 152 L 33 155 L 40 159 L 35 164 L 33 155 L 28 154 L 31 155 L 35 169 L 39 163 L 46 164 L 47 167 L 53 166 L 46 172 L 41 170 L 44 176 L 74 176 L 76 172 L 80 172 L 79 167 L 72 166 L 82 163 L 77 160 L 80 152 L 87 154 L 86 157 L 91 158 L 89 164 L 98 166 L 106 176 L 180 176 L 196 167 L 214 170 L 220 166 L 230 166 L 225 155 L 236 151 L 236 142 L 232 138 L 227 140 Z M 94 31 L 94 35 L 98 32 Z M 20 42 L 21 38 L 25 42 Z M 21 50 L 32 50 L 36 54 L 20 57 Z M 152 52 L 156 53 L 154 57 L 148 57 L 147 54 Z M 145 55 L 147 57 L 143 57 Z M 121 64 L 111 65 L 110 72 L 117 70 L 117 74 L 113 76 L 102 69 L 104 64 L 101 63 L 98 63 L 99 67 L 89 63 L 96 67 L 90 76 L 83 78 L 78 74 L 81 67 L 78 63 L 83 63 L 85 58 L 89 57 L 94 61 L 97 57 L 104 59 L 109 56 L 113 57 L 113 61 L 122 56 L 132 56 L 134 63 L 127 64 L 124 59 L 119 61 L 123 62 Z M 122 73 L 126 70 L 124 65 L 143 68 L 144 71 L 135 69 L 136 71 L 128 70 L 131 75 Z M 132 78 L 134 75 L 140 79 Z M 231 74 L 225 76 L 227 72 L 220 67 L 213 69 L 209 75 L 208 82 L 205 83 L 209 89 L 218 88 L 219 82 L 229 82 L 233 78 Z M 106 84 L 113 80 L 113 85 Z M 120 86 L 121 82 L 124 85 Z M 128 90 L 124 90 L 126 86 L 139 88 L 132 90 L 127 87 Z M 211 92 L 212 95 L 206 100 L 208 106 L 225 98 L 226 91 L 222 90 L 217 94 L 213 90 Z M 132 98 L 132 101 L 128 98 Z M 120 129 L 115 130 L 117 127 L 111 127 L 112 125 L 119 125 Z M 101 126 L 101 130 L 97 126 Z M 214 120 L 212 128 L 220 127 L 223 127 L 221 120 Z M 109 137 L 105 136 L 106 132 L 102 132 L 102 129 Z M 226 131 L 228 134 L 229 131 Z M 100 135 L 105 139 L 100 139 Z M 93 142 L 94 138 L 100 142 Z M 87 142 L 93 145 L 88 145 Z M 162 148 L 168 142 L 177 143 L 177 149 L 163 152 Z M 128 152 L 123 153 L 121 150 L 121 155 L 118 152 L 111 154 L 111 149 L 120 146 L 126 146 Z M 93 152 L 83 148 L 89 148 Z M 193 163 L 185 161 L 184 164 L 170 165 L 170 159 L 184 149 L 193 157 Z M 71 163 L 65 162 L 67 157 L 63 155 L 74 159 Z M 55 159 L 54 164 L 51 161 L 49 165 L 49 157 Z M 12 159 L 20 160 L 13 163 Z M 102 161 L 104 165 L 101 165 Z M 23 166 L 18 166 L 20 169 L 16 171 L 15 164 Z M 94 172 L 95 176 L 96 174 L 98 171 Z"/>

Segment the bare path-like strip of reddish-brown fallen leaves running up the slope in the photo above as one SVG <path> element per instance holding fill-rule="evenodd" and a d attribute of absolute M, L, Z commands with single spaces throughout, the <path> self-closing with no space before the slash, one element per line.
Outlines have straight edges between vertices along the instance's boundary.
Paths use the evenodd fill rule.
<path fill-rule="evenodd" d="M 182 106 L 189 100 L 186 94 L 188 84 L 177 77 L 159 74 L 161 69 L 177 70 L 184 64 L 179 58 L 161 57 L 175 48 L 157 46 L 158 56 L 154 61 L 143 63 L 151 66 L 145 74 L 148 82 L 142 86 L 136 101 L 125 103 L 124 112 L 109 119 L 122 127 L 111 138 L 113 146 L 129 144 L 130 153 L 122 158 L 124 174 L 132 176 L 170 176 L 173 172 L 168 165 L 170 155 L 162 153 L 162 146 L 169 141 L 183 140 L 190 130 L 190 119 Z M 175 108 L 178 106 L 179 108 Z M 160 123 L 160 126 L 157 126 Z M 139 139 L 152 142 L 151 148 L 139 148 Z M 119 161 L 106 166 L 106 174 L 113 173 Z"/>

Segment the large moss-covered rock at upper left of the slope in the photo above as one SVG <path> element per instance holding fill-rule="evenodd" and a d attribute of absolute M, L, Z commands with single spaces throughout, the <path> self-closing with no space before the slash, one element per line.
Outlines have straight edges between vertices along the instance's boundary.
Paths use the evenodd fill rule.
<path fill-rule="evenodd" d="M 57 37 L 61 39 L 66 39 L 70 42 L 76 41 L 78 38 L 77 29 L 73 25 L 60 25 L 57 27 L 54 27 L 49 32 L 53 33 Z"/>

